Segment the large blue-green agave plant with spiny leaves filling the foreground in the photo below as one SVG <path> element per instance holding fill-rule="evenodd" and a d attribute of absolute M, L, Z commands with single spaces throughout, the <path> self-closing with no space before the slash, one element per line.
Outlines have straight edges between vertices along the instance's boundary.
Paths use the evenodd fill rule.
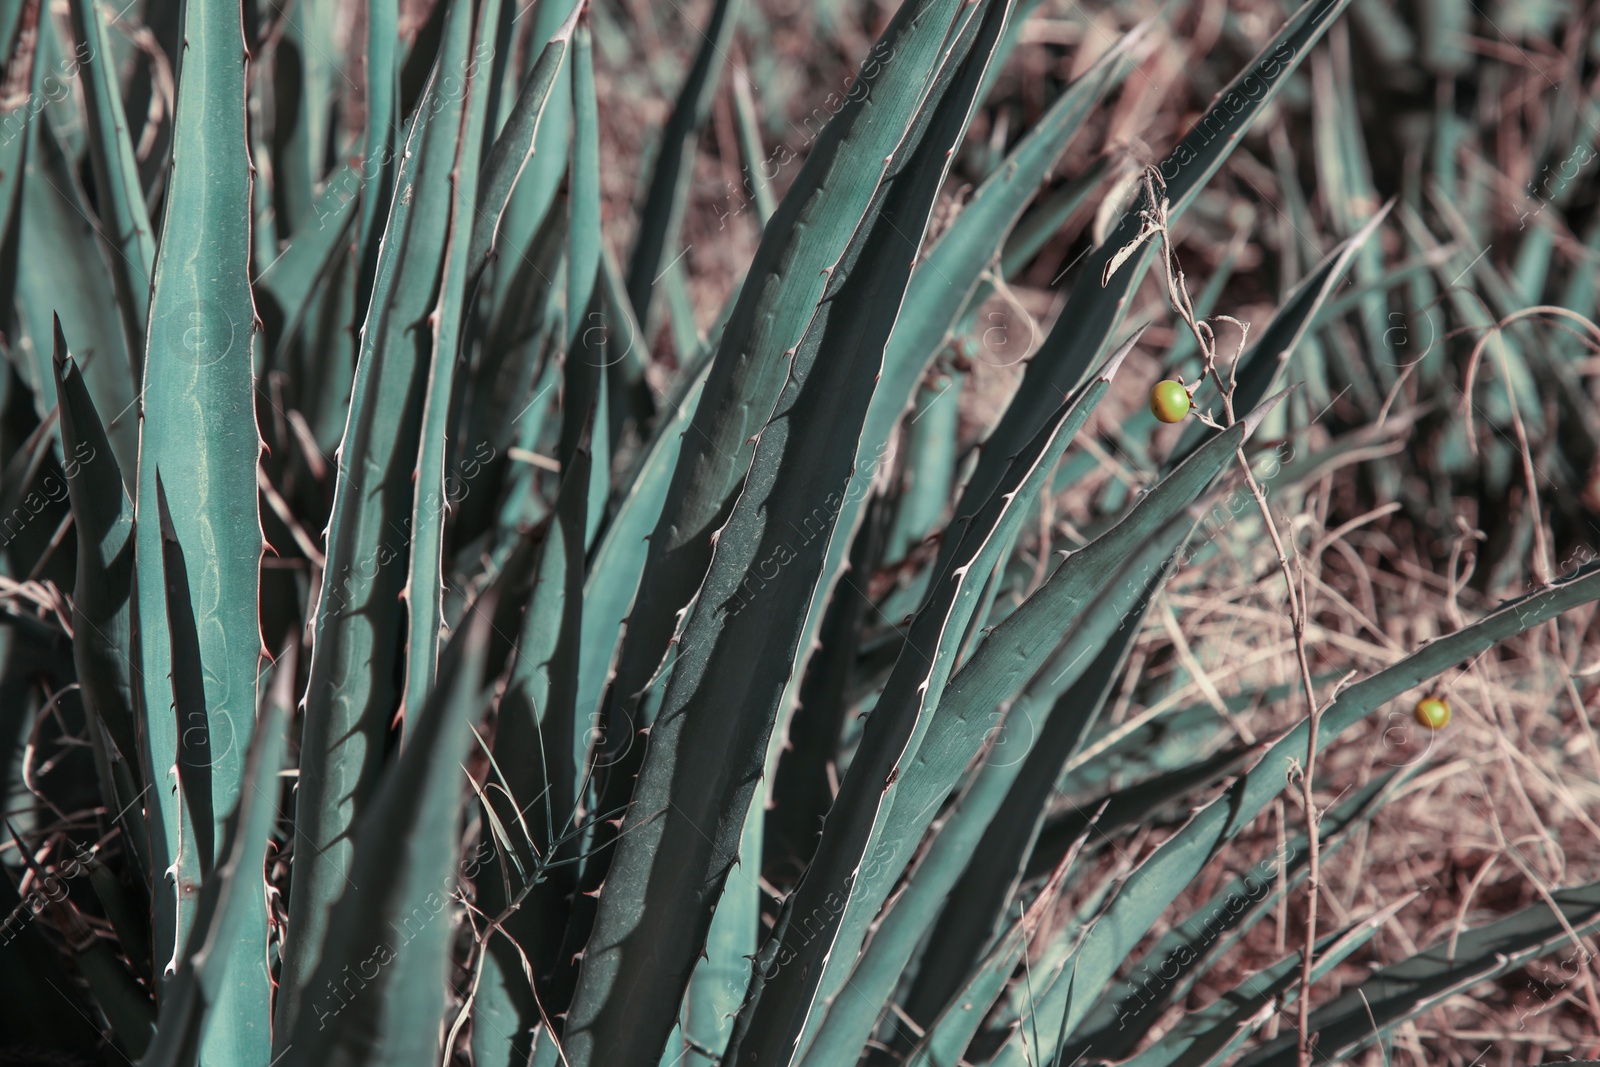
<path fill-rule="evenodd" d="M 1190 299 L 1178 269 L 1171 229 L 1347 3 L 1283 21 L 1162 162 L 1090 152 L 1058 182 L 1174 13 L 1126 21 L 974 163 L 954 218 L 952 166 L 1037 0 L 902 0 L 803 162 L 765 152 L 741 82 L 760 242 L 709 338 L 678 253 L 734 0 L 710 5 L 622 262 L 613 16 L 586 0 L 0 5 L 0 637 L 5 715 L 32 731 L 5 771 L 26 803 L 0 1059 L 1304 1064 L 1312 1032 L 1318 1059 L 1350 1056 L 1600 929 L 1600 883 L 1558 888 L 1322 998 L 1400 904 L 1326 929 L 1312 905 L 1302 952 L 1157 1027 L 1410 771 L 1163 926 L 1288 779 L 1310 801 L 1341 734 L 1600 600 L 1595 565 L 1541 576 L 1339 685 L 1301 614 L 1296 725 L 1248 750 L 1157 766 L 1104 721 L 1176 566 L 1221 565 L 1202 522 L 1243 501 L 1277 539 L 1267 491 L 1320 474 L 1266 472 L 1259 438 L 1304 434 L 1330 382 L 1374 406 L 1397 389 L 1317 341 L 1350 301 L 1426 288 L 1373 234 L 1402 219 L 1445 269 L 1411 202 L 1368 197 L 1237 352 L 1206 322 L 1219 290 Z M 330 59 L 341 35 L 358 62 Z M 939 402 L 979 309 L 1096 205 L 1054 326 L 958 462 Z M 1341 306 L 1352 270 L 1368 288 Z M 1147 277 L 1200 414 L 1046 571 L 1032 531 L 1130 374 Z M 1525 416 L 1512 397 L 1485 418 Z M 1285 581 L 1286 557 L 1261 577 Z M 45 785 L 35 750 L 59 750 Z M 1066 817 L 1064 768 L 1104 793 Z M 1085 865 L 1197 801 L 1114 883 Z M 1136 1003 L 1133 968 L 1160 974 Z M 1275 1013 L 1290 1029 L 1259 1037 Z"/>

